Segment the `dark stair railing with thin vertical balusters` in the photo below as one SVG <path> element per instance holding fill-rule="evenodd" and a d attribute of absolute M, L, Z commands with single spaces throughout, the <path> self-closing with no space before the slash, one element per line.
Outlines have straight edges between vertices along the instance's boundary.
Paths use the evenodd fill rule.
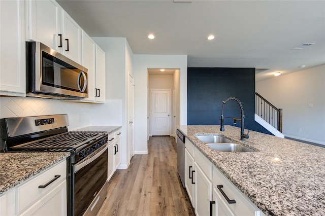
<path fill-rule="evenodd" d="M 282 133 L 282 109 L 255 92 L 255 114 Z"/>

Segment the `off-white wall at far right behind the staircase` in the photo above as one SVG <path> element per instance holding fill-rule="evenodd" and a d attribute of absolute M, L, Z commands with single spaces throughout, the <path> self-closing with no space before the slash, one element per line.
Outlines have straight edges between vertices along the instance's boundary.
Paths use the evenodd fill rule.
<path fill-rule="evenodd" d="M 325 64 L 256 82 L 255 88 L 283 109 L 285 136 L 325 145 Z"/>

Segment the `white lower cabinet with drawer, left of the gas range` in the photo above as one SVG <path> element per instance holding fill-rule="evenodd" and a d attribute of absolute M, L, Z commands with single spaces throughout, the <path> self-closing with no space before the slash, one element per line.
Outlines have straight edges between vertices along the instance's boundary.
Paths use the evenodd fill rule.
<path fill-rule="evenodd" d="M 59 162 L 1 195 L 1 215 L 67 215 L 67 162 Z"/>

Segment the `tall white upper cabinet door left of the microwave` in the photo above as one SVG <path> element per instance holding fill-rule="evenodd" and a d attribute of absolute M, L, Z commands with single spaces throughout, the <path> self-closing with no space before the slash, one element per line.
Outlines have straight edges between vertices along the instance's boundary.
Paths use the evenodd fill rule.
<path fill-rule="evenodd" d="M 25 96 L 24 1 L 0 1 L 0 94 Z"/>

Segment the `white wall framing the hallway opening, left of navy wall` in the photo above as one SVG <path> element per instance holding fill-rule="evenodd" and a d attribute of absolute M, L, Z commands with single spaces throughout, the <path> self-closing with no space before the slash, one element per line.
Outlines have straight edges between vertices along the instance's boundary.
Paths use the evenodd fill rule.
<path fill-rule="evenodd" d="M 147 154 L 147 87 L 148 68 L 180 69 L 180 124 L 187 124 L 187 56 L 186 55 L 134 55 L 135 76 L 135 153 Z"/>

